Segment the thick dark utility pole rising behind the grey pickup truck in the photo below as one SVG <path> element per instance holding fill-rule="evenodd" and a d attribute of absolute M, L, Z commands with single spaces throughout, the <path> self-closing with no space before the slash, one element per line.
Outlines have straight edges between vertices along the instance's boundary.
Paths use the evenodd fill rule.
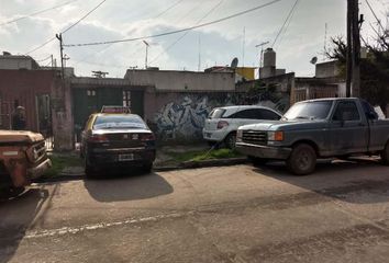
<path fill-rule="evenodd" d="M 362 16 L 363 18 L 363 16 Z M 346 96 L 359 96 L 360 37 L 358 0 L 347 0 Z"/>

